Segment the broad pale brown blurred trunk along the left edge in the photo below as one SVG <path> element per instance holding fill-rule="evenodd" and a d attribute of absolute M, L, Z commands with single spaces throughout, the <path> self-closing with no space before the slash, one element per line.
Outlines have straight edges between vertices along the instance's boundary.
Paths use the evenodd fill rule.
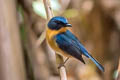
<path fill-rule="evenodd" d="M 0 80 L 26 80 L 15 0 L 0 0 Z"/>

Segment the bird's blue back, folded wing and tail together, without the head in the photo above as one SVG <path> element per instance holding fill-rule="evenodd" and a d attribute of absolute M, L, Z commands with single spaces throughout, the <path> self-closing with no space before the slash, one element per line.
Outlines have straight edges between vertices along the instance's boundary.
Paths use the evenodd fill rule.
<path fill-rule="evenodd" d="M 98 63 L 84 48 L 84 46 L 80 43 L 80 41 L 69 31 L 67 30 L 65 33 L 61 33 L 55 36 L 56 43 L 60 49 L 67 52 L 69 55 L 81 60 L 83 63 L 84 60 L 82 58 L 82 54 L 86 57 L 90 58 L 96 66 L 104 71 L 104 68 L 101 64 Z"/>

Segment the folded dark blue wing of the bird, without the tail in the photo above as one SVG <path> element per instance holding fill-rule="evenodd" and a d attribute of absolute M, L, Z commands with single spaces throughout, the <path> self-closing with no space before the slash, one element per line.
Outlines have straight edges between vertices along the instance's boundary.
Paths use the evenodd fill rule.
<path fill-rule="evenodd" d="M 69 39 L 64 33 L 56 35 L 55 38 L 56 38 L 56 43 L 60 49 L 62 49 L 69 55 L 79 59 L 85 64 L 81 56 L 81 52 L 79 51 L 79 47 L 76 46 L 73 40 Z"/>

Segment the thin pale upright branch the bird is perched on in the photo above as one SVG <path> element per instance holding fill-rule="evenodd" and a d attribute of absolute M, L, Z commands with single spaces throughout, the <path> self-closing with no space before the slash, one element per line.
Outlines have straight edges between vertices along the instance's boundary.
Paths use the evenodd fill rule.
<path fill-rule="evenodd" d="M 43 2 L 44 2 L 46 14 L 47 14 L 47 20 L 49 21 L 53 17 L 53 12 L 52 12 L 52 8 L 50 5 L 50 0 L 43 0 Z M 56 63 L 58 64 L 58 66 L 61 65 L 62 63 L 64 63 L 63 57 L 56 54 Z M 67 80 L 65 67 L 61 66 L 58 70 L 60 72 L 60 79 Z"/>

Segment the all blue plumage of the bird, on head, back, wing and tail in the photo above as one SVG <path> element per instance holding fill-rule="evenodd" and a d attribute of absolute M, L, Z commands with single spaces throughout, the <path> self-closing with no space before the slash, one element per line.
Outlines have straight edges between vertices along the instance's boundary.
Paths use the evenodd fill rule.
<path fill-rule="evenodd" d="M 60 30 L 63 27 L 68 27 L 68 21 L 66 18 L 61 16 L 53 17 L 48 22 L 48 28 L 51 30 Z M 70 26 L 69 26 L 70 27 Z M 56 36 L 54 36 L 57 45 L 61 50 L 66 52 L 67 54 L 79 59 L 83 63 L 84 60 L 82 58 L 82 55 L 86 56 L 87 58 L 90 58 L 96 66 L 101 70 L 104 71 L 103 66 L 98 63 L 85 49 L 85 47 L 80 43 L 80 41 L 73 35 L 69 30 L 67 30 L 64 33 L 59 33 Z"/>

